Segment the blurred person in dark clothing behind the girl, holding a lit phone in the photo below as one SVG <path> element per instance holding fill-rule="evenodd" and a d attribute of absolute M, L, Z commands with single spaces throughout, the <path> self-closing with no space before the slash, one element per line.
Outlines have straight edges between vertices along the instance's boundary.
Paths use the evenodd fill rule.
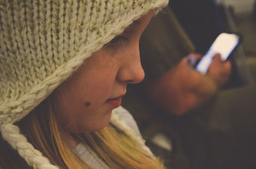
<path fill-rule="evenodd" d="M 209 48 L 211 43 L 205 46 Z M 193 53 L 198 52 L 198 47 L 170 8 L 152 19 L 141 37 L 141 46 L 146 47 L 141 50 L 146 78 L 143 84 L 129 88 L 124 107 L 138 112 L 134 117 L 140 121 L 149 144 L 150 140 L 154 142 L 152 147 L 157 144 L 154 138 L 159 133 L 166 136 L 172 149 L 158 151 L 163 156 L 172 156 L 166 162 L 177 168 L 255 166 L 255 84 L 241 82 L 236 88 L 228 85 L 227 82 L 242 80 L 237 74 L 230 77 L 231 70 L 239 73 L 239 69 L 229 61 L 220 61 L 218 55 L 207 75 L 190 68 L 189 58 L 200 59 L 200 55 Z"/>

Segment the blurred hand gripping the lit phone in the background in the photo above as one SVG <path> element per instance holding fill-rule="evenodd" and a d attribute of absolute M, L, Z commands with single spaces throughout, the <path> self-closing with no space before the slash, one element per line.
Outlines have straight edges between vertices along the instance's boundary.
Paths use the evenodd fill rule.
<path fill-rule="evenodd" d="M 183 115 L 199 107 L 227 83 L 231 73 L 230 61 L 221 61 L 220 54 L 212 59 L 206 75 L 190 67 L 189 57 L 199 60 L 202 55 L 190 54 L 175 68 L 148 85 L 147 94 L 169 115 Z"/>

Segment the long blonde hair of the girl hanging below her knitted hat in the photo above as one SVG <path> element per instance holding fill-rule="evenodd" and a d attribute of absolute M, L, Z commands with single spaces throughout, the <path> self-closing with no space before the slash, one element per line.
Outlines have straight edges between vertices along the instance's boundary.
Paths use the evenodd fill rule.
<path fill-rule="evenodd" d="M 54 165 L 63 169 L 92 168 L 77 157 L 61 140 L 60 129 L 52 111 L 51 97 L 16 124 L 29 142 Z M 129 136 L 112 124 L 97 132 L 73 134 L 72 136 L 88 144 L 95 157 L 104 161 L 102 165 L 110 168 L 164 168 L 161 160 L 143 151 L 141 147 L 136 147 L 136 143 Z M 0 139 L 0 148 L 3 150 L 0 151 L 0 166 L 10 169 L 29 168 L 18 156 L 17 151 L 13 151 L 10 146 L 6 147 L 3 138 Z M 12 155 L 6 156 L 5 154 Z M 11 161 L 15 163 L 10 164 Z"/>

